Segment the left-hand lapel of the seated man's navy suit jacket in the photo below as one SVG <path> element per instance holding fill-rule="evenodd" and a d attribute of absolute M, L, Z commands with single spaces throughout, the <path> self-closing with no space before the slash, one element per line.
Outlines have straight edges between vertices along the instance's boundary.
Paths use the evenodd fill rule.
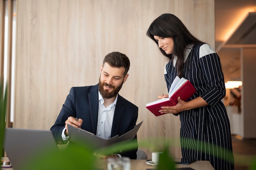
<path fill-rule="evenodd" d="M 98 124 L 98 110 L 99 110 L 99 94 L 98 94 L 98 85 L 95 85 L 91 89 L 91 93 L 88 94 L 89 97 L 89 107 L 90 114 L 92 118 L 92 131 L 94 135 L 97 133 L 97 124 Z"/>

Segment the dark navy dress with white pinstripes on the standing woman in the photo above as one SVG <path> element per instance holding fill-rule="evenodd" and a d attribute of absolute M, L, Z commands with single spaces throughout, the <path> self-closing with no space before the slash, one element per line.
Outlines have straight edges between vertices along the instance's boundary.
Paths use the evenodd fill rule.
<path fill-rule="evenodd" d="M 201 96 L 209 105 L 179 113 L 182 157 L 209 160 L 216 170 L 233 170 L 229 118 L 221 101 L 226 90 L 220 58 L 209 44 L 191 46 L 185 56 L 184 78 L 197 90 L 189 100 Z M 168 91 L 177 76 L 176 59 L 165 66 Z"/>

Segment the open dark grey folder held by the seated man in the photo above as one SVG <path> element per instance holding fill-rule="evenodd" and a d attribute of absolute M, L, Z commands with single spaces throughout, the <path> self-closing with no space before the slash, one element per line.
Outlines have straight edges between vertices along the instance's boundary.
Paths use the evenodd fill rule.
<path fill-rule="evenodd" d="M 117 142 L 129 141 L 133 139 L 137 134 L 137 131 L 139 130 L 142 122 L 135 125 L 134 129 L 128 131 L 124 135 L 121 135 L 121 136 L 116 135 L 114 137 L 111 137 L 110 139 L 103 139 L 101 137 L 94 135 L 93 133 L 90 133 L 83 129 L 75 128 L 73 126 L 70 126 L 69 124 L 67 125 L 67 128 L 68 128 L 68 133 L 70 135 L 70 142 L 74 142 L 75 144 L 78 144 L 81 146 L 89 143 L 89 144 L 93 144 L 92 147 L 94 147 L 94 149 L 99 149 Z"/>

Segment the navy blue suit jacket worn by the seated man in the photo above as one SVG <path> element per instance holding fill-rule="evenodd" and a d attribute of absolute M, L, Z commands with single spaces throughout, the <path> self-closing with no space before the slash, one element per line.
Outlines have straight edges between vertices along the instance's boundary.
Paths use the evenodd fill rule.
<path fill-rule="evenodd" d="M 63 144 L 61 133 L 65 127 L 65 121 L 68 117 L 81 118 L 83 123 L 81 129 L 97 133 L 98 109 L 99 109 L 99 84 L 86 87 L 72 87 L 65 103 L 51 127 L 51 131 L 58 144 Z M 132 130 L 136 125 L 138 118 L 138 107 L 118 95 L 117 104 L 112 124 L 111 137 L 123 135 Z M 137 141 L 137 135 L 135 136 Z M 126 153 L 119 153 L 122 156 L 136 159 L 136 150 Z"/>

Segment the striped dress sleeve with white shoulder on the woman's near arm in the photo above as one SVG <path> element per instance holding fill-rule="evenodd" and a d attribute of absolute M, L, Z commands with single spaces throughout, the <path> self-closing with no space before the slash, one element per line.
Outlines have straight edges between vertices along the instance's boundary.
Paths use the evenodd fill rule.
<path fill-rule="evenodd" d="M 199 61 L 207 86 L 207 91 L 201 97 L 210 106 L 214 106 L 226 95 L 220 58 L 209 44 L 204 44 L 200 47 Z"/>

